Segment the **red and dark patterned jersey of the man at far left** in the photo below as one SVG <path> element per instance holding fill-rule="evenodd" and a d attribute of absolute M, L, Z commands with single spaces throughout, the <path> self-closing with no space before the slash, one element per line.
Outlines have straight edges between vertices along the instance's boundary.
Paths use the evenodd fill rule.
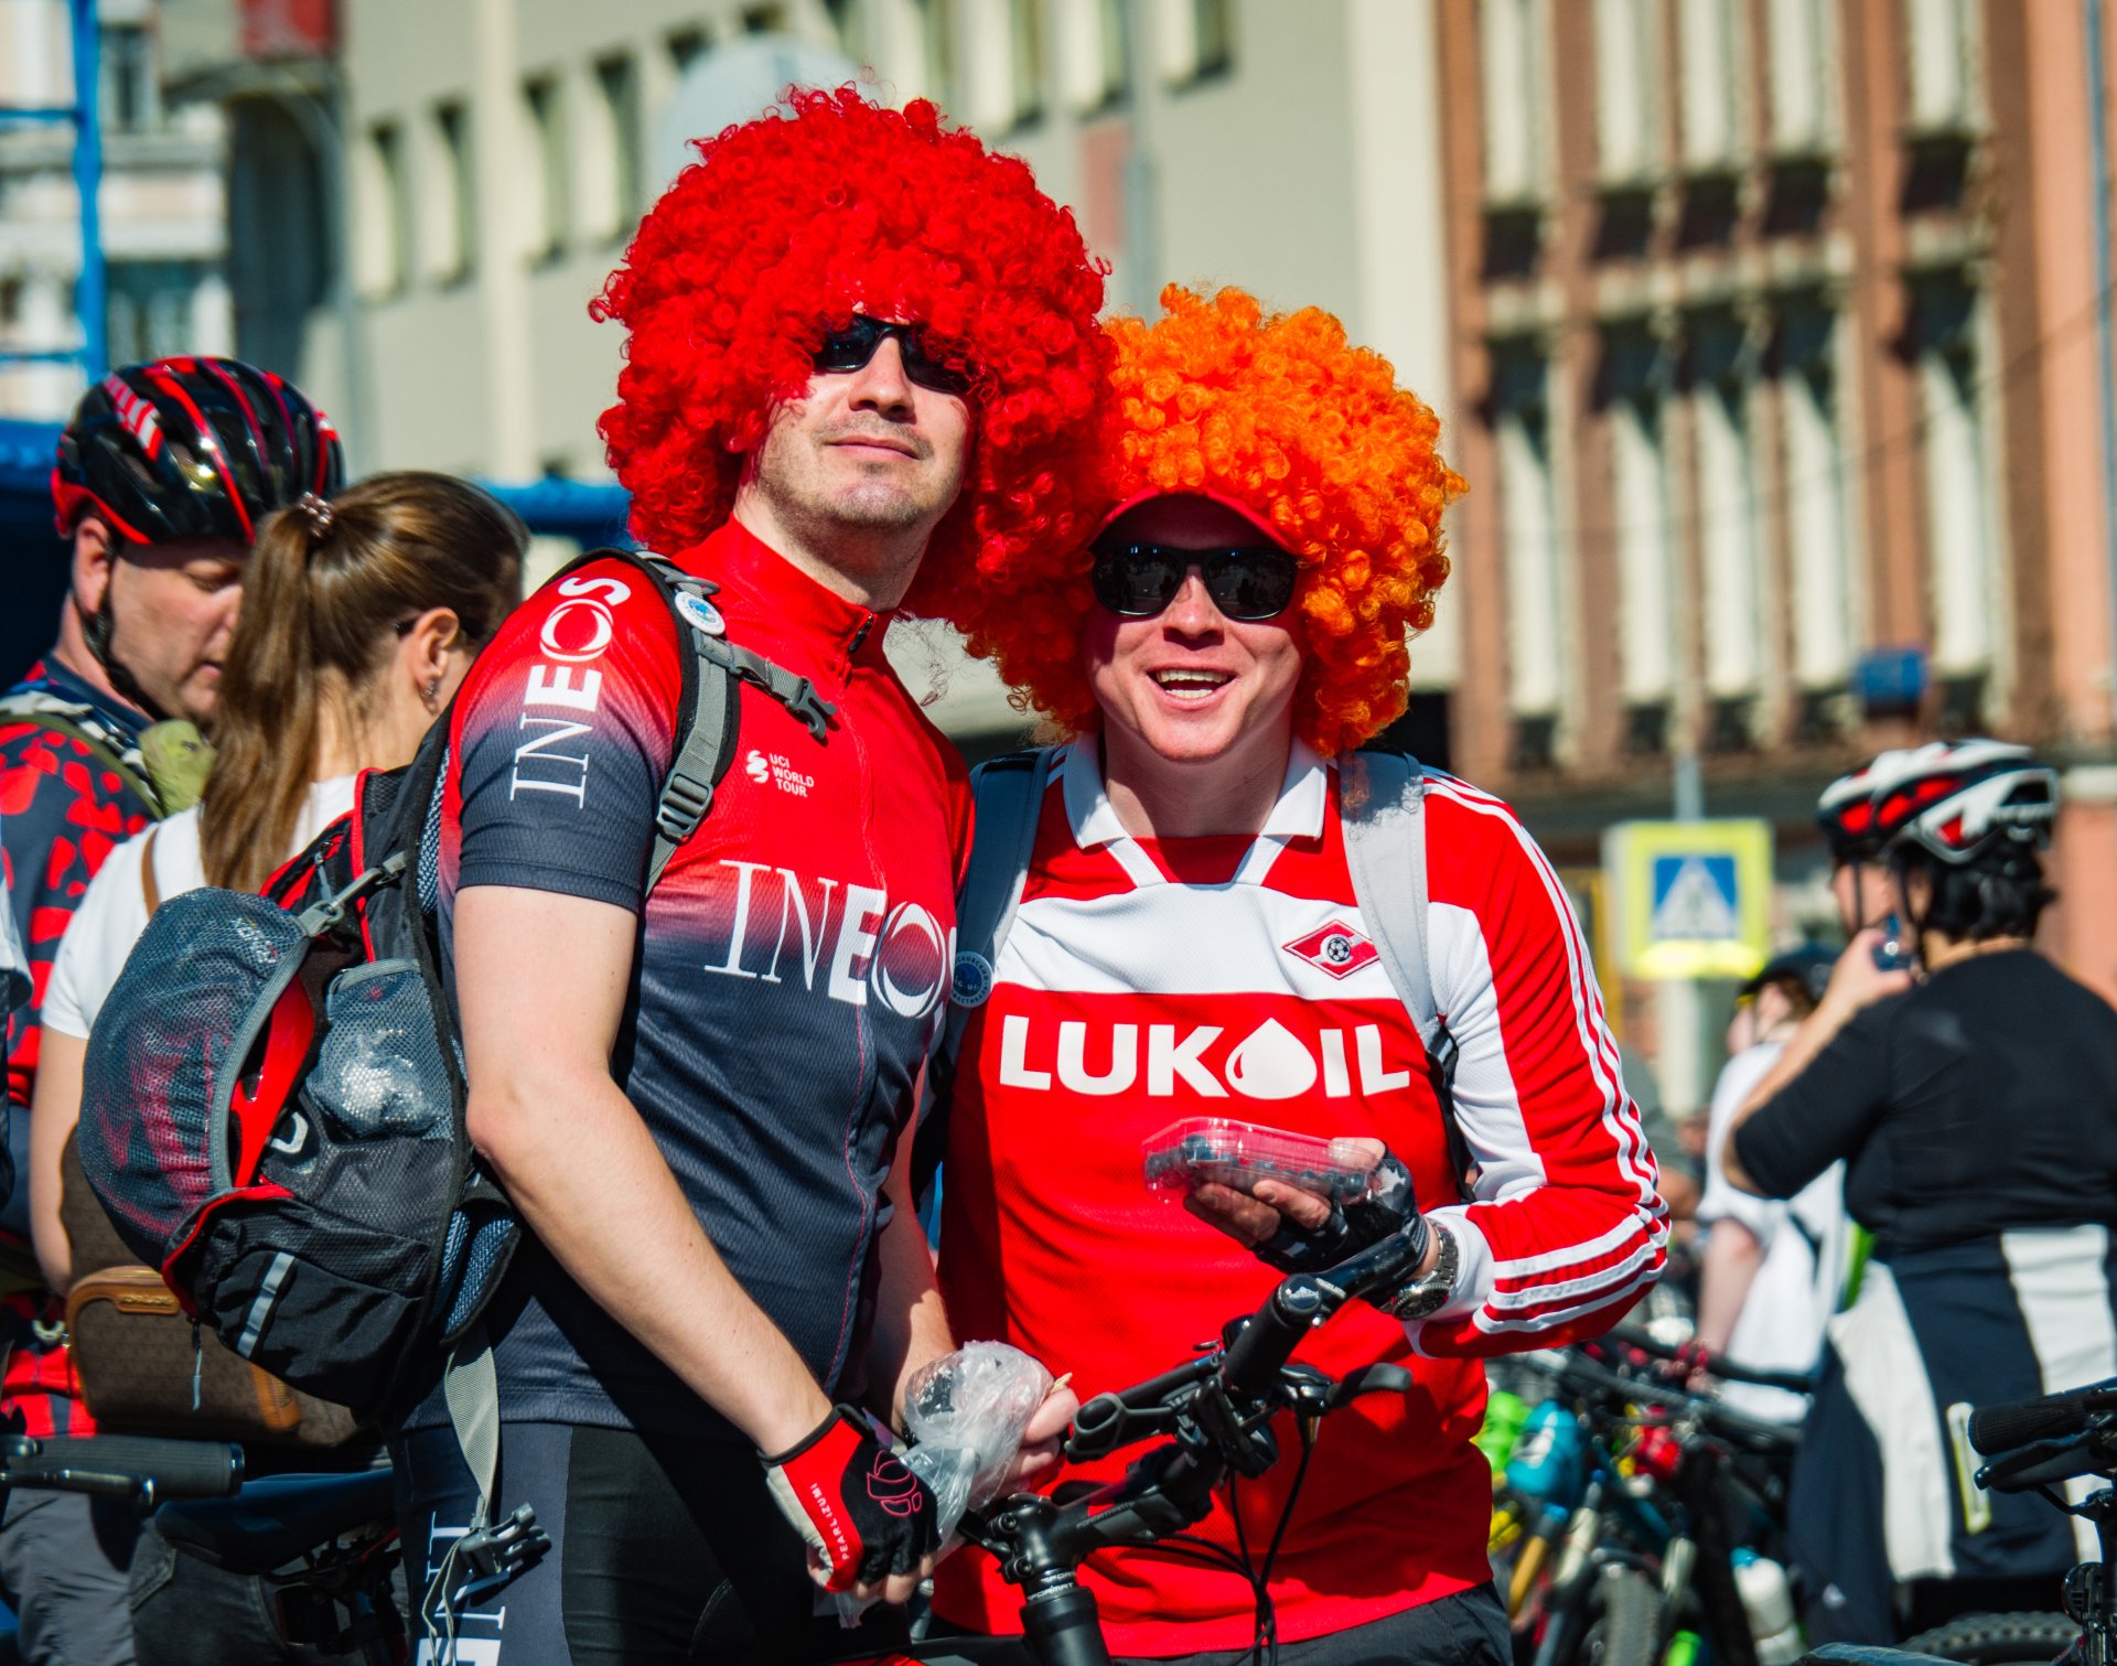
<path fill-rule="evenodd" d="M 119 745 L 138 739 L 146 724 L 138 711 L 51 663 L 32 667 L 21 688 L 91 707 L 97 726 Z M 148 807 L 95 758 L 87 741 L 38 722 L 0 718 L 0 876 L 30 957 L 30 1006 L 13 1016 L 6 1033 L 11 1120 L 28 1122 L 30 1116 L 42 1037 L 38 1020 L 59 938 L 104 857 L 119 840 L 142 832 L 148 819 Z M 28 1141 L 17 1137 L 13 1145 L 23 1152 Z M 28 1175 L 17 1173 L 17 1188 L 25 1183 Z M 23 1217 L 19 1207 L 11 1213 Z M 6 1236 L 19 1247 L 19 1234 Z M 68 1353 L 57 1340 L 57 1302 L 47 1296 L 23 1293 L 0 1302 L 0 1344 L 8 1351 L 0 1414 L 19 1410 L 32 1435 L 93 1433 Z"/>

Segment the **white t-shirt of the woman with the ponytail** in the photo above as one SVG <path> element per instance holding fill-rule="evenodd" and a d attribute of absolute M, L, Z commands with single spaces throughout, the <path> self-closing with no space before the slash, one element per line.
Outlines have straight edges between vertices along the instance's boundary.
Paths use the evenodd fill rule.
<path fill-rule="evenodd" d="M 309 796 L 301 802 L 301 815 L 294 817 L 294 843 L 288 855 L 294 855 L 354 807 L 354 779 L 339 775 L 309 787 Z M 51 967 L 51 984 L 44 989 L 42 1022 L 59 1035 L 87 1039 L 110 986 L 125 970 L 125 957 L 146 931 L 146 891 L 140 885 L 140 864 L 146 859 L 150 836 L 155 840 L 155 885 L 161 889 L 163 902 L 205 885 L 205 857 L 199 849 L 199 813 L 195 809 L 157 821 L 148 832 L 127 838 L 110 851 L 59 940 L 59 957 Z"/>

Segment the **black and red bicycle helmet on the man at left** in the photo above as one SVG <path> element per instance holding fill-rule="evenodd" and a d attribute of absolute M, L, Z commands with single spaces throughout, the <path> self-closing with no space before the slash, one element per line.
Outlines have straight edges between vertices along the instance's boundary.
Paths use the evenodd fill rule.
<path fill-rule="evenodd" d="M 273 510 L 343 481 L 339 434 L 294 383 L 233 358 L 163 358 L 80 398 L 51 497 L 61 536 L 95 510 L 138 544 L 248 546 Z"/>

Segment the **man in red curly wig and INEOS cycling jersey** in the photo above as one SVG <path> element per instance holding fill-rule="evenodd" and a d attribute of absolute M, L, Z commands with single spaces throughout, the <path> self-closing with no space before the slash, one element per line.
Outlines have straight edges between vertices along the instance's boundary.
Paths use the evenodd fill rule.
<path fill-rule="evenodd" d="M 1084 536 L 1103 279 L 929 104 L 792 102 L 699 144 L 593 311 L 629 330 L 601 432 L 635 531 L 817 699 L 741 686 L 739 762 L 652 893 L 690 648 L 637 569 L 546 586 L 455 705 L 470 1133 L 531 1234 L 487 1325 L 500 1492 L 550 1535 L 430 1615 L 464 1660 L 811 1658 L 857 1643 L 817 1583 L 902 1602 L 938 1550 L 874 1416 L 951 1346 L 900 1133 L 970 807 L 883 635 Z M 417 1590 L 474 1499 L 438 1393 L 396 1461 Z"/>

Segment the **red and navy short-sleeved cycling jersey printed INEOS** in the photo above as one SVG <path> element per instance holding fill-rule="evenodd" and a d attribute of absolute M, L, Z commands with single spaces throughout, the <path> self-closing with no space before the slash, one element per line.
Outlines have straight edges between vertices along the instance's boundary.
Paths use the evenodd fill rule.
<path fill-rule="evenodd" d="M 967 779 L 883 656 L 887 616 L 732 523 L 677 563 L 722 586 L 730 641 L 836 705 L 828 737 L 743 684 L 735 766 L 641 902 L 682 688 L 669 610 L 618 561 L 546 586 L 455 703 L 442 942 L 474 885 L 641 912 L 612 1073 L 735 1279 L 845 1397 L 883 1181 L 948 993 Z M 489 1329 L 508 1418 L 732 1437 L 533 1241 Z M 415 1425 L 438 1416 L 430 1401 Z"/>

